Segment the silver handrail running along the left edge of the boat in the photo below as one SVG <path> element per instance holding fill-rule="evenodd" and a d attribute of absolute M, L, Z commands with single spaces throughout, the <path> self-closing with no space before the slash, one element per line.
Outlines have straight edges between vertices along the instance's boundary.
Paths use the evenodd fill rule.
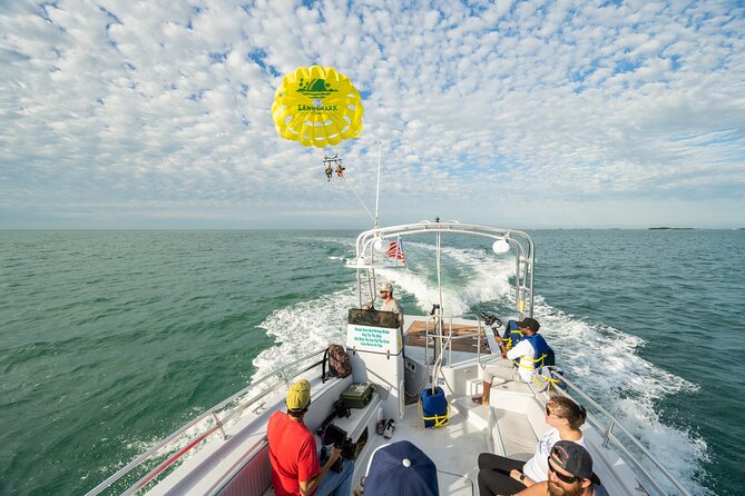
<path fill-rule="evenodd" d="M 263 398 L 264 396 L 268 395 L 269 393 L 274 391 L 277 389 L 282 383 L 275 384 L 267 388 L 266 390 L 259 393 L 255 397 L 252 397 L 248 400 L 242 401 L 239 406 L 234 408 L 233 410 L 229 411 L 229 414 L 223 418 L 223 419 L 217 419 L 216 414 L 217 411 L 222 410 L 226 405 L 229 405 L 232 401 L 234 401 L 236 398 L 247 394 L 249 390 L 255 389 L 257 386 L 262 385 L 263 383 L 267 381 L 268 379 L 275 377 L 277 374 L 281 376 L 281 378 L 284 380 L 286 384 L 288 381 L 288 378 L 285 377 L 284 371 L 288 368 L 292 368 L 293 366 L 306 361 L 317 355 L 322 355 L 324 353 L 324 349 L 313 351 L 308 355 L 305 355 L 294 361 L 291 361 L 290 364 L 283 365 L 282 367 L 278 367 L 268 374 L 266 374 L 264 377 L 261 379 L 252 383 L 251 385 L 246 386 L 245 388 L 241 389 L 238 393 L 234 394 L 233 396 L 228 397 L 227 399 L 224 399 L 223 401 L 218 403 L 214 407 L 212 407 L 209 410 L 200 415 L 199 417 L 195 418 L 190 423 L 184 425 L 180 427 L 178 430 L 169 435 L 168 437 L 161 439 L 159 443 L 157 443 L 155 446 L 153 446 L 150 449 L 131 460 L 129 464 L 127 464 L 125 467 L 120 468 L 116 474 L 100 483 L 98 486 L 94 487 L 91 490 L 86 493 L 86 496 L 96 496 L 100 493 L 102 493 L 106 488 L 108 488 L 110 485 L 133 472 L 134 469 L 138 468 L 140 465 L 143 465 L 146 460 L 148 460 L 153 455 L 155 455 L 157 452 L 159 452 L 161 448 L 165 446 L 169 445 L 170 443 L 174 442 L 174 439 L 178 438 L 182 436 L 185 431 L 188 429 L 195 427 L 196 425 L 200 424 L 208 417 L 216 418 L 216 425 L 208 428 L 204 433 L 199 434 L 197 437 L 192 439 L 192 442 L 180 450 L 178 450 L 175 455 L 171 455 L 166 462 L 160 464 L 158 467 L 155 469 L 150 470 L 145 477 L 140 478 L 137 483 L 135 483 L 131 487 L 129 487 L 124 494 L 125 495 L 130 495 L 137 493 L 139 489 L 141 489 L 143 486 L 145 486 L 148 482 L 150 482 L 154 477 L 156 477 L 158 474 L 160 474 L 163 470 L 168 468 L 170 465 L 173 465 L 176 460 L 178 460 L 182 456 L 184 456 L 186 453 L 188 453 L 192 448 L 197 446 L 199 443 L 205 440 L 207 437 L 209 437 L 212 434 L 214 434 L 216 430 L 220 429 L 222 426 L 224 426 L 227 421 L 232 420 L 236 416 L 241 415 L 243 411 L 245 411 L 248 406 L 253 405 L 256 400 Z M 301 374 L 306 373 L 307 370 L 311 370 L 314 367 L 317 367 L 321 365 L 322 361 L 315 361 L 307 367 L 297 370 L 290 379 L 297 377 Z"/>

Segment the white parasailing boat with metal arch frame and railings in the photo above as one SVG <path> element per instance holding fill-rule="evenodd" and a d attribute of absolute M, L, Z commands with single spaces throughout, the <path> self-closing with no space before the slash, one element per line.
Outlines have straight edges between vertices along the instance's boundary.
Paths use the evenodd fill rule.
<path fill-rule="evenodd" d="M 356 274 L 356 301 L 346 318 L 352 374 L 330 377 L 324 349 L 256 377 L 246 388 L 155 444 L 88 495 L 272 495 L 266 426 L 284 410 L 293 381 L 312 385 L 304 421 L 312 431 L 333 423 L 355 449 L 355 483 L 370 467 L 372 454 L 389 443 L 408 440 L 435 464 L 443 495 L 477 495 L 480 453 L 528 459 L 546 431 L 545 408 L 551 395 L 565 395 L 588 409 L 582 426 L 594 470 L 610 495 L 689 495 L 678 479 L 601 405 L 558 367 L 539 369 L 531 384 L 492 385 L 489 406 L 471 400 L 482 387 L 483 367 L 500 359 L 496 334 L 500 319 L 491 314 L 449 315 L 442 305 L 443 241 L 469 237 L 497 257 L 513 257 L 513 308 L 509 317 L 533 315 L 535 247 L 520 230 L 458 221 L 420 221 L 376 227 L 361 232 L 355 257 L 346 265 Z M 392 242 L 433 240 L 439 301 L 429 315 L 404 316 L 400 333 L 393 314 L 371 308 L 381 270 L 404 269 Z M 453 277 L 450 275 L 449 277 Z M 506 316 L 507 317 L 507 316 Z M 560 365 L 560 354 L 557 361 Z M 366 404 L 334 415 L 335 403 L 353 384 L 369 383 Z M 428 393 L 430 391 L 430 393 Z M 423 407 L 427 395 L 444 397 L 445 411 Z M 376 433 L 393 419 L 388 438 Z"/>

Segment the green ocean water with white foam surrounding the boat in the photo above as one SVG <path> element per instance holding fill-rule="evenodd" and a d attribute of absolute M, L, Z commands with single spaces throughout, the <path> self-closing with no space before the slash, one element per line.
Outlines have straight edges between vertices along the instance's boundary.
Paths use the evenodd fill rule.
<path fill-rule="evenodd" d="M 744 494 L 745 231 L 529 232 L 535 317 L 567 375 L 693 494 Z M 0 494 L 82 494 L 255 375 L 341 341 L 355 236 L 0 231 Z M 512 264 L 481 244 L 447 246 L 445 314 L 513 318 Z M 409 269 L 381 276 L 429 313 L 432 241 L 404 247 Z"/>

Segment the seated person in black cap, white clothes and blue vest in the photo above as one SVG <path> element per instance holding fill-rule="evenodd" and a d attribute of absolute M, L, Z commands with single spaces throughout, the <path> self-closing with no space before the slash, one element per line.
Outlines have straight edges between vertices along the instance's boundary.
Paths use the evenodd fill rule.
<path fill-rule="evenodd" d="M 473 403 L 489 405 L 491 383 L 502 379 L 504 383 L 519 380 L 532 383 L 536 379 L 536 368 L 542 366 L 542 358 L 550 349 L 543 336 L 538 334 L 540 324 L 531 317 L 526 317 L 518 323 L 522 338 L 520 343 L 502 353 L 502 359 L 489 364 L 483 369 L 483 389 L 481 396 L 474 396 Z"/>

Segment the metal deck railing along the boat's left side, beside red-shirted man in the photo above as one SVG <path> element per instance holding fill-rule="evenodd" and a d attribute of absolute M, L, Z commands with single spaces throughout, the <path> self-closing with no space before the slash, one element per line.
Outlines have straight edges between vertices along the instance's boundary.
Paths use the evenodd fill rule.
<path fill-rule="evenodd" d="M 125 489 L 124 495 L 133 495 L 140 490 L 145 485 L 147 485 L 149 482 L 155 479 L 158 475 L 163 474 L 166 469 L 169 467 L 173 467 L 176 462 L 182 459 L 184 455 L 187 453 L 192 452 L 196 446 L 202 444 L 205 439 L 207 439 L 209 436 L 219 431 L 223 439 L 227 439 L 227 436 L 225 435 L 225 431 L 223 430 L 223 427 L 229 423 L 231 420 L 235 419 L 238 417 L 241 414 L 243 414 L 249 406 L 254 405 L 256 401 L 259 399 L 264 398 L 265 396 L 269 395 L 271 393 L 274 393 L 280 387 L 287 387 L 290 381 L 294 379 L 295 377 L 300 376 L 301 374 L 304 374 L 317 366 L 320 366 L 323 363 L 323 359 L 312 361 L 310 365 L 306 365 L 305 367 L 300 367 L 297 369 L 294 369 L 296 366 L 300 364 L 303 364 L 308 360 L 313 360 L 314 358 L 318 356 L 323 356 L 324 349 L 314 351 L 312 354 L 305 355 L 302 358 L 298 358 L 295 361 L 292 361 L 290 364 L 286 364 L 277 369 L 272 370 L 269 374 L 265 375 L 261 379 L 256 380 L 255 383 L 252 383 L 249 386 L 245 387 L 244 389 L 239 390 L 238 393 L 234 394 L 229 398 L 220 401 L 219 404 L 215 405 L 212 407 L 206 413 L 202 414 L 199 417 L 195 418 L 180 429 L 176 430 L 174 434 L 170 436 L 166 437 L 165 439 L 160 440 L 157 443 L 155 446 L 153 446 L 150 449 L 131 460 L 129 464 L 127 464 L 125 467 L 122 467 L 120 470 L 118 470 L 116 474 L 114 474 L 111 477 L 107 478 L 104 480 L 101 484 L 98 486 L 94 487 L 90 492 L 86 494 L 86 496 L 95 496 L 104 490 L 106 490 L 108 487 L 114 485 L 117 480 L 121 479 L 122 477 L 127 476 L 128 474 L 133 473 L 134 470 L 143 467 L 146 463 L 151 462 L 156 457 L 164 456 L 163 454 L 159 454 L 159 452 L 166 452 L 170 447 L 170 449 L 174 449 L 175 453 L 171 454 L 170 456 L 167 457 L 165 462 L 161 462 L 158 464 L 155 468 L 153 468 L 150 472 L 147 473 L 144 477 L 141 477 L 139 480 L 137 480 L 134 485 Z M 275 384 L 268 384 L 267 383 L 271 379 L 278 379 Z M 263 387 L 263 388 L 262 388 Z M 241 399 L 241 403 L 238 406 L 234 408 L 227 409 L 227 411 L 223 411 L 228 407 L 231 404 L 236 401 L 237 399 L 247 396 L 252 391 L 256 391 L 256 389 L 259 389 L 256 394 L 252 395 L 248 399 Z M 224 416 L 220 418 L 219 414 L 223 414 Z M 204 426 L 202 426 L 204 424 Z M 178 440 L 183 435 L 185 435 L 189 429 L 196 429 L 196 433 L 192 434 L 189 436 L 188 443 L 186 444 L 185 447 L 177 449 L 176 447 L 171 446 L 175 444 L 176 440 Z"/>

